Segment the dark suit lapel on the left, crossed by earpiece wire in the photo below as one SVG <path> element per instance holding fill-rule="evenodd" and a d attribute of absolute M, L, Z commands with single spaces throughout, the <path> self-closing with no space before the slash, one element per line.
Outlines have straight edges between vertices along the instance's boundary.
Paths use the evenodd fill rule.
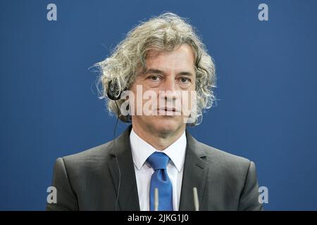
<path fill-rule="evenodd" d="M 139 211 L 135 168 L 130 148 L 131 129 L 132 126 L 128 127 L 123 134 L 115 139 L 113 148 L 110 147 L 111 157 L 108 159 L 113 185 L 118 193 L 117 210 L 123 211 Z"/>

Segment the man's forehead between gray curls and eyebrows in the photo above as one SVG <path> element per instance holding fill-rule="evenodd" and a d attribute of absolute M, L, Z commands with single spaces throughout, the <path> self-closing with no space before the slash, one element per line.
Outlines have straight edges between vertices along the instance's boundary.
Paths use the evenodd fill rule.
<path fill-rule="evenodd" d="M 171 52 L 150 50 L 147 53 L 147 69 L 162 70 L 164 72 L 194 71 L 194 52 L 188 44 L 182 44 Z"/>

